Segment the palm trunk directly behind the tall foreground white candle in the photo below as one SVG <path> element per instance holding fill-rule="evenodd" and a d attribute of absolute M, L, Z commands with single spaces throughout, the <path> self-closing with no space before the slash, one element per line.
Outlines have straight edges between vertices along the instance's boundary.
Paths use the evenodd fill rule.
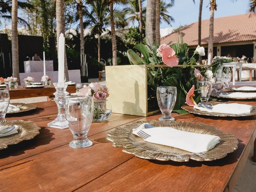
<path fill-rule="evenodd" d="M 59 52 L 59 36 L 60 33 L 63 33 L 65 36 L 65 4 L 64 0 L 56 0 L 56 34 L 57 34 L 57 50 Z M 59 54 L 58 54 L 59 57 Z M 64 76 L 66 81 L 69 81 L 68 77 L 68 63 L 66 57 L 66 48 L 64 53 Z"/>

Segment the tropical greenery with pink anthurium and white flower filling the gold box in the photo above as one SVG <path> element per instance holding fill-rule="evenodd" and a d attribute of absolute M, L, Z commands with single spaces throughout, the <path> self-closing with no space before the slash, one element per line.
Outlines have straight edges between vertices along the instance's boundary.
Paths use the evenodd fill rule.
<path fill-rule="evenodd" d="M 204 55 L 204 48 L 198 46 L 193 52 L 189 51 L 188 44 L 178 40 L 171 46 L 162 44 L 159 47 L 154 44 L 144 45 L 137 44 L 134 50 L 128 50 L 127 56 L 130 64 L 150 64 L 151 68 L 147 68 L 148 74 L 148 107 L 157 108 L 156 88 L 157 86 L 175 86 L 177 88 L 177 100 L 174 106 L 174 111 L 180 112 L 181 106 L 186 102 L 188 91 L 196 84 L 194 76 L 195 68 L 201 70 L 201 67 L 196 67 L 197 54 Z M 179 67 L 174 67 L 178 66 Z M 154 65 L 167 65 L 156 66 Z M 198 94 L 195 94 L 195 102 L 200 100 Z"/>

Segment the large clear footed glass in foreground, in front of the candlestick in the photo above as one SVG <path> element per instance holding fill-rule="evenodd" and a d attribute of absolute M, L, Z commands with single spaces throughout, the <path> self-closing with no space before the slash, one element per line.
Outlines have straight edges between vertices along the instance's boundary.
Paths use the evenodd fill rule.
<path fill-rule="evenodd" d="M 69 143 L 73 148 L 92 145 L 87 133 L 92 124 L 93 101 L 90 96 L 70 96 L 65 98 L 65 116 L 74 140 Z"/>

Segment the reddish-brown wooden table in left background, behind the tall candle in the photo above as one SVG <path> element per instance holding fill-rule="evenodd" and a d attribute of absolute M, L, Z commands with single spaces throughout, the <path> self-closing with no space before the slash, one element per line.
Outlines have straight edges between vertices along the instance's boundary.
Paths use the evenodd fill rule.
<path fill-rule="evenodd" d="M 69 85 L 66 89 L 69 93 L 76 92 L 75 85 Z M 10 99 L 20 99 L 20 98 L 29 98 L 29 97 L 40 97 L 40 96 L 53 96 L 53 93 L 56 92 L 56 89 L 53 85 L 45 88 L 32 88 L 27 89 L 24 86 L 18 86 L 16 89 L 10 90 Z"/>

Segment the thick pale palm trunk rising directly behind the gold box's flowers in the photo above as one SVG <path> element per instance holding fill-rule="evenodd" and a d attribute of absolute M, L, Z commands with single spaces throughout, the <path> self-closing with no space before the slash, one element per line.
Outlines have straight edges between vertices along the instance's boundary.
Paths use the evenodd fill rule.
<path fill-rule="evenodd" d="M 146 43 L 153 46 L 155 40 L 156 40 L 156 0 L 147 0 Z"/>

